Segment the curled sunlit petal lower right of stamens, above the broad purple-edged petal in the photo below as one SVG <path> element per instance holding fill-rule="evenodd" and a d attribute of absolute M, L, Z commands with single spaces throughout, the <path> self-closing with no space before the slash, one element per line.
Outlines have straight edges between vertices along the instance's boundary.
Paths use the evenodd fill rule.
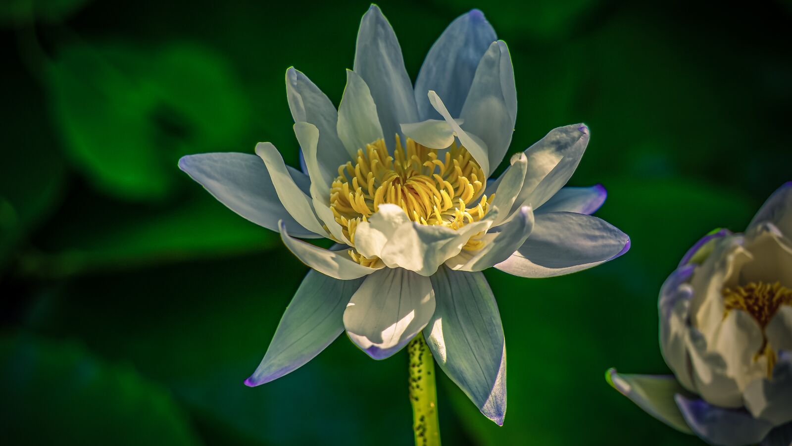
<path fill-rule="evenodd" d="M 485 245 L 480 250 L 463 250 L 446 261 L 451 269 L 483 271 L 505 261 L 522 246 L 534 227 L 534 213 L 527 206 L 516 212 L 517 217 L 497 227 L 482 237 Z M 494 232 L 497 231 L 497 232 Z"/>

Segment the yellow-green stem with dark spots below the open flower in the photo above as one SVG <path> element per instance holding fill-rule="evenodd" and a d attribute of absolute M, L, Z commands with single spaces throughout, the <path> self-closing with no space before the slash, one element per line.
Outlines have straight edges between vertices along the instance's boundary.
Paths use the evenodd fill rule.
<path fill-rule="evenodd" d="M 440 446 L 437 419 L 435 360 L 419 333 L 407 345 L 409 351 L 409 401 L 413 404 L 413 431 L 416 446 Z"/>

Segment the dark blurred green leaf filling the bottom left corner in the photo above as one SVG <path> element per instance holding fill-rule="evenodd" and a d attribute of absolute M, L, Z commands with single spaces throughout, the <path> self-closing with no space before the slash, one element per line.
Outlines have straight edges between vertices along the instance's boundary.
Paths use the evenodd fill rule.
<path fill-rule="evenodd" d="M 5 444 L 199 444 L 167 391 L 78 345 L 0 340 Z"/>

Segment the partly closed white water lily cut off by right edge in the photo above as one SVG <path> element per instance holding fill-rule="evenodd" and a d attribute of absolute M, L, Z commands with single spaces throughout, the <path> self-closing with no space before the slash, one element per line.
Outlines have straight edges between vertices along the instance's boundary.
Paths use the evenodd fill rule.
<path fill-rule="evenodd" d="M 711 444 L 792 444 L 792 183 L 744 234 L 708 234 L 660 294 L 663 356 L 676 376 L 611 383 L 644 410 Z"/>

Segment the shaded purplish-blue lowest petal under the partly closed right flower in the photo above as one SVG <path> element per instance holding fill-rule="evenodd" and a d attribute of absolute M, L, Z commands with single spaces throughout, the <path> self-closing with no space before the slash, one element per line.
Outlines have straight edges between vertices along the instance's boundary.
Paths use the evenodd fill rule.
<path fill-rule="evenodd" d="M 724 409 L 712 406 L 703 399 L 676 395 L 687 425 L 710 444 L 721 446 L 747 446 L 759 443 L 773 425 L 756 419 L 744 409 Z"/>

